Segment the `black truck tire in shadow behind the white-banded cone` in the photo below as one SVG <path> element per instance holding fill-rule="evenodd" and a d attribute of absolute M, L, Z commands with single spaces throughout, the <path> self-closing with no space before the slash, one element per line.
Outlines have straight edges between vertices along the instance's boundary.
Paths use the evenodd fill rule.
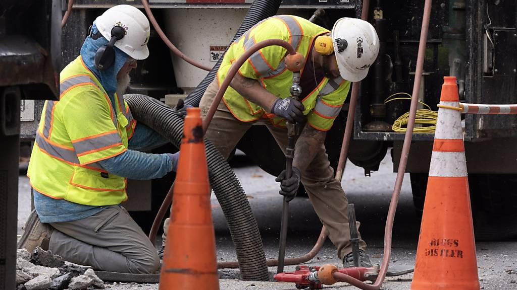
<path fill-rule="evenodd" d="M 410 173 L 413 203 L 422 217 L 427 173 Z M 469 174 L 476 240 L 517 238 L 517 174 Z"/>

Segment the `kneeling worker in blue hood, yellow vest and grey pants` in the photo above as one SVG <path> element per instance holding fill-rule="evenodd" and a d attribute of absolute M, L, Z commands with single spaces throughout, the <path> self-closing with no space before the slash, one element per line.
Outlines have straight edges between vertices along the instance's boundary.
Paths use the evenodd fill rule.
<path fill-rule="evenodd" d="M 136 60 L 149 55 L 149 22 L 119 5 L 94 22 L 81 54 L 60 74 L 59 101 L 47 101 L 28 176 L 33 212 L 18 248 L 49 248 L 94 269 L 153 273 L 160 260 L 142 229 L 120 206 L 127 178 L 161 178 L 178 154 L 135 150 L 165 141 L 136 124 L 122 95 Z"/>

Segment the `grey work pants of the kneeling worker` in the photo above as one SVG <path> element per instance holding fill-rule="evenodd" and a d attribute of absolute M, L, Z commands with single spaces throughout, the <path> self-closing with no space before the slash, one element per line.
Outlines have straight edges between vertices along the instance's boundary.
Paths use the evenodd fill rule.
<path fill-rule="evenodd" d="M 154 245 L 124 207 L 50 224 L 55 231 L 49 249 L 65 261 L 121 273 L 154 273 L 160 265 Z"/>

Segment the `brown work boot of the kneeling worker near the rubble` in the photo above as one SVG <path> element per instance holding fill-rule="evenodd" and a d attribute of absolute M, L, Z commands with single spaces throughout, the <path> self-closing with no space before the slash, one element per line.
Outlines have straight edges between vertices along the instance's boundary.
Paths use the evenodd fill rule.
<path fill-rule="evenodd" d="M 36 210 L 25 222 L 24 232 L 20 241 L 18 241 L 17 249 L 26 249 L 30 253 L 40 246 L 43 250 L 49 250 L 50 236 L 54 228 L 50 224 L 41 223 Z"/>

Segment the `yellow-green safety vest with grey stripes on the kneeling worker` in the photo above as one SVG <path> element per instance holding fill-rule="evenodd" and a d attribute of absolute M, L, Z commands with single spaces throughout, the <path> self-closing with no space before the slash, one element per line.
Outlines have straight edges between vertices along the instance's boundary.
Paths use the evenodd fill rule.
<path fill-rule="evenodd" d="M 60 74 L 59 101 L 45 101 L 27 176 L 41 194 L 86 205 L 127 200 L 127 180 L 99 160 L 127 150 L 136 121 L 122 96 L 115 111 L 81 56 Z"/>

